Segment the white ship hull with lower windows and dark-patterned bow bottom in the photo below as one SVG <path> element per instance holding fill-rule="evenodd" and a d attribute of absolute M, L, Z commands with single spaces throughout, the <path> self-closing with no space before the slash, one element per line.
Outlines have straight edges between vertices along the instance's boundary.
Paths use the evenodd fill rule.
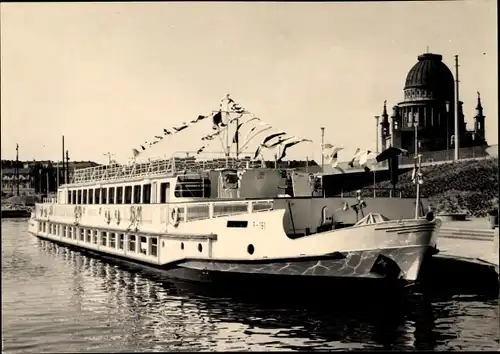
<path fill-rule="evenodd" d="M 293 200 L 293 199 L 292 199 Z M 318 199 L 338 203 L 338 198 Z M 291 238 L 276 200 L 167 205 L 37 204 L 34 235 L 182 280 L 399 279 L 415 281 L 436 243 L 438 220 L 386 221 Z M 172 221 L 174 208 L 180 222 Z M 206 210 L 206 215 L 203 214 Z M 304 211 L 302 211 L 304 212 Z M 295 227 L 299 227 L 299 218 Z M 229 223 L 228 223 L 229 222 Z M 230 224 L 232 227 L 229 227 Z M 293 224 L 293 223 L 292 223 Z M 130 243 L 131 236 L 135 242 Z M 120 237 L 123 239 L 120 241 Z"/>

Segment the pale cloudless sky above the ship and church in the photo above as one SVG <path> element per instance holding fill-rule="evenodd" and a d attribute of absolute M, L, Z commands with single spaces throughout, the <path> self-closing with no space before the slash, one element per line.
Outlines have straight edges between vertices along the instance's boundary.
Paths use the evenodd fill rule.
<path fill-rule="evenodd" d="M 219 108 L 226 94 L 276 131 L 375 148 L 384 100 L 403 100 L 427 52 L 460 60 L 468 126 L 481 92 L 486 139 L 498 143 L 496 1 L 2 3 L 1 157 L 125 161 L 132 149 Z M 210 122 L 142 157 L 196 151 Z M 256 139 L 257 140 L 257 139 Z M 252 145 L 252 144 L 250 144 Z M 207 151 L 219 151 L 214 141 Z M 351 152 L 352 151 L 352 152 Z M 234 152 L 234 150 L 233 150 Z M 253 150 L 249 151 L 253 153 Z M 345 156 L 343 157 L 342 154 Z"/>

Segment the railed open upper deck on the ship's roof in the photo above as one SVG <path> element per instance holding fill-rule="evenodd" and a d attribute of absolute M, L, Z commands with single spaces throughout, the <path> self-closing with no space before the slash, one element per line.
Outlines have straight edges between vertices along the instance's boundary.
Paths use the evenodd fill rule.
<path fill-rule="evenodd" d="M 260 161 L 244 159 L 217 158 L 212 160 L 197 160 L 195 157 L 172 157 L 170 159 L 154 159 L 147 162 L 134 162 L 128 165 L 110 164 L 75 170 L 70 185 L 92 184 L 100 182 L 122 182 L 137 178 L 154 176 L 176 176 L 184 171 L 207 171 L 222 168 L 255 168 L 260 167 Z"/>

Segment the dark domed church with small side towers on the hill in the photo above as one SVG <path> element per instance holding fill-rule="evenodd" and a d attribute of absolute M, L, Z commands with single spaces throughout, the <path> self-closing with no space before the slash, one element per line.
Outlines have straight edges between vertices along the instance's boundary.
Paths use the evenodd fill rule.
<path fill-rule="evenodd" d="M 384 103 L 381 125 L 382 150 L 401 147 L 415 151 L 415 125 L 419 151 L 452 149 L 455 135 L 455 81 L 439 54 L 425 53 L 410 69 L 404 100 L 393 107 L 391 121 Z M 467 131 L 462 101 L 458 102 L 460 147 L 485 145 L 484 115 L 478 93 L 474 130 Z"/>

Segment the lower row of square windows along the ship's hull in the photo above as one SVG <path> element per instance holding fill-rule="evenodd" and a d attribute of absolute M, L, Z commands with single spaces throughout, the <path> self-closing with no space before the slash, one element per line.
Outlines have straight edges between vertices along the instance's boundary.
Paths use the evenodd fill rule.
<path fill-rule="evenodd" d="M 80 242 L 99 245 L 111 249 L 137 252 L 146 256 L 158 256 L 158 237 L 141 236 L 109 231 L 98 231 L 76 226 L 59 225 L 47 222 L 39 223 L 39 232 L 60 236 Z M 146 246 L 144 247 L 144 244 Z"/>

